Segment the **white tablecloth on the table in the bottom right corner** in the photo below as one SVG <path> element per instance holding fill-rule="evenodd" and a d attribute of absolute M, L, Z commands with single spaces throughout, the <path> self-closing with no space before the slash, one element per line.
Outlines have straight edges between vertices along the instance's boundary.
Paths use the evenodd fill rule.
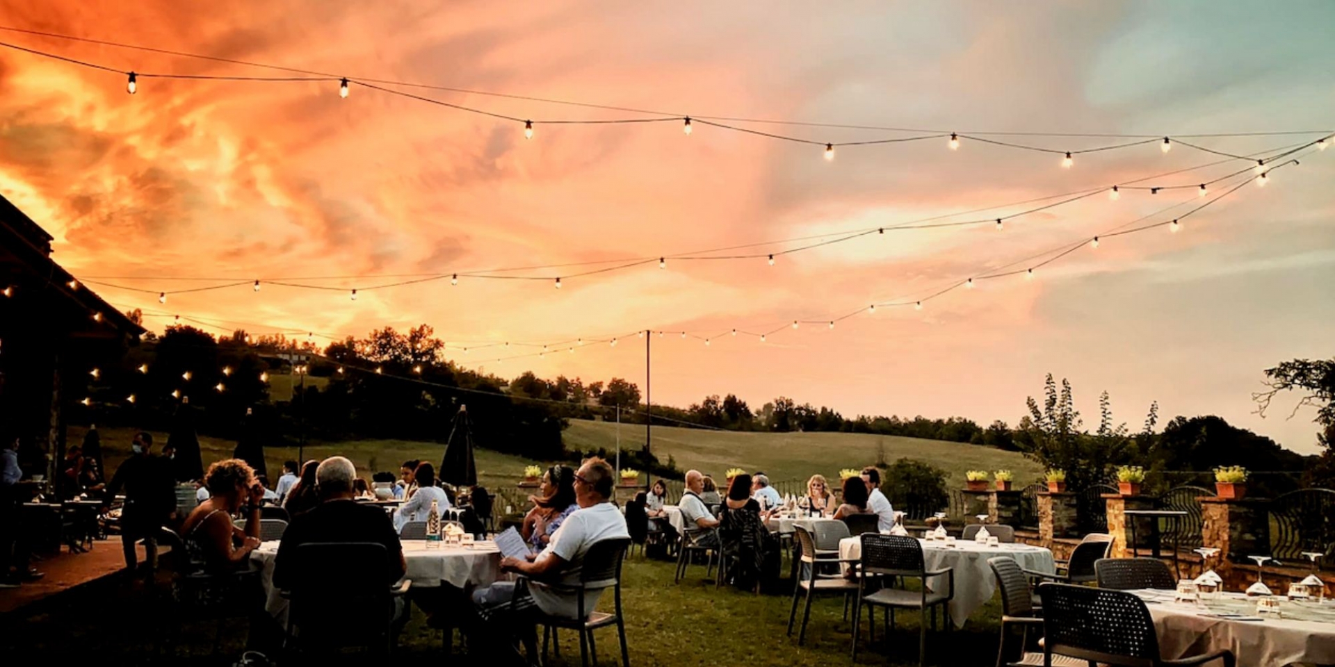
<path fill-rule="evenodd" d="M 1255 598 L 1224 594 L 1222 600 L 1204 600 L 1202 607 L 1172 602 L 1172 591 L 1132 591 L 1145 600 L 1159 634 L 1159 654 L 1164 659 L 1185 658 L 1230 648 L 1239 667 L 1290 663 L 1335 664 L 1335 604 L 1280 603 L 1280 616 L 1264 620 L 1232 620 L 1206 614 L 1255 615 Z M 1298 620 L 1299 616 L 1312 620 Z M 1322 620 L 1316 620 L 1322 619 Z M 1324 620 L 1328 619 L 1328 620 Z"/>

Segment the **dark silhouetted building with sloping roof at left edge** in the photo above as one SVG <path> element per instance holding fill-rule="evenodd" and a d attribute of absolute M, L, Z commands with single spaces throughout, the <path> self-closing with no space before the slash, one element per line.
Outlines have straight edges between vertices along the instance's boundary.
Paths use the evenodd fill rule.
<path fill-rule="evenodd" d="M 91 370 L 144 328 L 56 264 L 51 239 L 0 196 L 0 432 L 41 446 L 55 466 L 69 411 L 87 410 Z"/>

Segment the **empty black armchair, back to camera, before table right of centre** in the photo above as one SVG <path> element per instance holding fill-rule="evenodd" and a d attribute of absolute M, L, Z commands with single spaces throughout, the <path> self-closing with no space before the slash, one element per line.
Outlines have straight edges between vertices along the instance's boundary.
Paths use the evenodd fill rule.
<path fill-rule="evenodd" d="M 894 610 L 918 610 L 922 615 L 918 627 L 918 666 L 926 660 L 926 626 L 928 612 L 932 612 L 932 626 L 936 626 L 936 607 L 944 610 L 945 627 L 951 627 L 951 608 L 948 603 L 955 598 L 955 570 L 928 570 L 922 560 L 922 544 L 901 535 L 880 535 L 866 532 L 860 536 L 862 544 L 862 558 L 857 574 L 858 595 L 853 603 L 853 660 L 857 660 L 857 638 L 861 630 L 862 606 L 869 606 L 869 640 L 876 639 L 876 607 L 885 607 L 889 616 L 889 627 L 894 628 Z M 905 588 L 880 587 L 869 592 L 872 587 L 880 586 L 884 578 L 900 576 L 905 579 L 918 579 L 918 591 Z M 941 591 L 940 582 L 936 590 L 930 590 L 928 580 L 944 576 L 947 579 L 945 591 Z"/>

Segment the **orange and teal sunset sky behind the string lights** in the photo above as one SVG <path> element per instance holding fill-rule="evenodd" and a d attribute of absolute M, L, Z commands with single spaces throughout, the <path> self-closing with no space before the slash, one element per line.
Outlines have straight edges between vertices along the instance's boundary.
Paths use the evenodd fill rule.
<path fill-rule="evenodd" d="M 3 1 L 0 24 L 219 57 L 471 91 L 801 123 L 981 132 L 1304 135 L 1199 137 L 1252 153 L 1335 128 L 1335 3 L 364 3 Z M 279 72 L 3 32 L 0 41 L 116 71 Z M 653 336 L 653 399 L 734 392 L 857 414 L 1015 424 L 1044 374 L 1068 378 L 1087 424 L 1107 390 L 1135 430 L 1214 414 L 1316 451 L 1312 412 L 1266 419 L 1263 370 L 1335 355 L 1335 151 L 1299 157 L 1183 221 L 1108 237 L 1023 275 L 920 299 L 1172 204 L 1191 188 L 1099 193 L 1008 221 L 886 231 L 745 260 L 669 259 L 563 280 L 461 277 L 368 289 L 391 275 L 467 273 L 832 235 L 1019 203 L 1220 161 L 1157 143 L 1060 155 L 945 139 L 841 147 L 681 121 L 545 125 L 454 111 L 336 81 L 142 79 L 0 48 L 0 193 L 56 236 L 55 257 L 160 331 L 172 315 L 254 334 L 364 335 L 429 323 L 454 346 Z M 534 120 L 653 117 L 409 89 Z M 885 129 L 733 123 L 813 141 Z M 989 139 L 1079 151 L 1115 137 Z M 1165 175 L 1195 184 L 1247 163 Z M 1246 180 L 1243 176 L 1240 180 Z M 1223 184 L 1222 184 L 1223 185 Z M 1223 189 L 1223 187 L 1220 188 Z M 1031 207 L 1033 204 L 1029 204 Z M 1177 208 L 1175 211 L 1184 211 Z M 1164 221 L 1172 213 L 1149 217 Z M 821 239 L 816 239 L 821 240 Z M 810 241 L 806 241 L 810 243 Z M 732 252 L 781 252 L 780 243 Z M 1033 261 L 1016 264 L 1019 268 Z M 587 267 L 597 268 L 597 267 Z M 578 268 L 509 275 L 559 276 Z M 100 276 L 100 277 L 99 277 Z M 364 276 L 320 279 L 323 276 Z M 182 279 L 219 279 L 215 281 Z M 226 281 L 266 284 L 156 292 Z M 320 279 L 320 280 L 316 280 Z M 350 291 L 358 288 L 358 299 Z M 215 329 L 216 331 L 216 329 Z M 681 338 L 681 331 L 693 336 Z M 712 338 L 705 346 L 701 338 Z M 327 339 L 323 339 L 327 342 Z M 533 348 L 514 348 L 529 352 Z M 623 376 L 643 342 L 511 359 L 455 354 L 502 376 Z"/>

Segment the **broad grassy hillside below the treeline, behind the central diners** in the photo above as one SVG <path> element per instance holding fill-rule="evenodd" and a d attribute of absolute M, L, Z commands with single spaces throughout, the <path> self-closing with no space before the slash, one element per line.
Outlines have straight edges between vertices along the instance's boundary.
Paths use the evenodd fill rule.
<path fill-rule="evenodd" d="M 617 424 L 609 422 L 570 420 L 565 431 L 569 448 L 583 451 L 617 447 Z M 625 448 L 645 442 L 643 426 L 621 426 Z M 653 428 L 653 451 L 661 460 L 672 455 L 682 470 L 697 468 L 722 479 L 728 468 L 765 471 L 776 480 L 806 479 L 822 474 L 838 479 L 841 468 L 862 468 L 876 463 L 877 447 L 885 447 L 885 460 L 900 458 L 928 462 L 951 474 L 951 487 L 964 487 L 968 470 L 1009 470 L 1017 486 L 1028 484 L 1043 474 L 1043 467 L 1017 452 L 992 447 L 944 440 L 924 440 L 872 434 L 769 434 L 705 431 L 698 428 Z"/>

